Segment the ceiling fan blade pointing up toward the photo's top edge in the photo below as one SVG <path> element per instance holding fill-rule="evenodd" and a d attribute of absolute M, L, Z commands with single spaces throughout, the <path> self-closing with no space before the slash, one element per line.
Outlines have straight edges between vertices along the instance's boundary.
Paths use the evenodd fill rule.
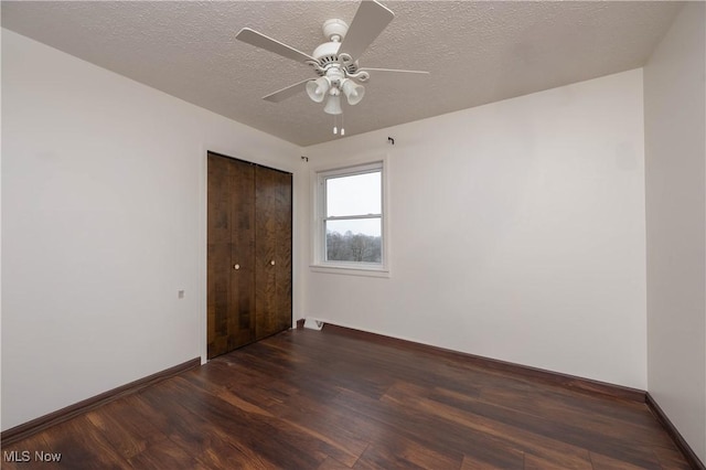
<path fill-rule="evenodd" d="M 349 32 L 343 38 L 339 52 L 351 54 L 355 61 L 368 45 L 393 21 L 395 13 L 376 1 L 364 0 L 355 12 Z"/>

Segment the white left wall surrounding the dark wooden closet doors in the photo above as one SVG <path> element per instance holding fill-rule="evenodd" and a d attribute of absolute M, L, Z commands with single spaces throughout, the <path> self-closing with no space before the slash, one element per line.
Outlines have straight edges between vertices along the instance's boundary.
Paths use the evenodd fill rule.
<path fill-rule="evenodd" d="M 296 146 L 7 30 L 2 93 L 8 429 L 200 356 L 205 151 L 297 183 L 301 163 Z"/>

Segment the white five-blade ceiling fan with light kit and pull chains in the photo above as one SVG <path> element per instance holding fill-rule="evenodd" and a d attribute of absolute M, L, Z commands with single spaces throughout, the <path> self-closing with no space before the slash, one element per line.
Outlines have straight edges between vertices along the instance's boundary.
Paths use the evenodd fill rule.
<path fill-rule="evenodd" d="M 318 78 L 298 82 L 267 95 L 263 99 L 279 103 L 306 89 L 309 97 L 315 103 L 322 103 L 327 99 L 324 113 L 335 116 L 343 113 L 341 95 L 345 96 L 349 105 L 356 105 L 363 99 L 365 88 L 361 83 L 366 83 L 371 74 L 428 74 L 422 71 L 359 67 L 357 58 L 394 17 L 395 14 L 389 9 L 377 1 L 364 0 L 359 6 L 350 26 L 339 19 L 327 20 L 323 23 L 323 35 L 328 42 L 319 45 L 311 55 L 249 28 L 240 30 L 236 39 L 292 61 L 308 64 L 319 75 Z"/>

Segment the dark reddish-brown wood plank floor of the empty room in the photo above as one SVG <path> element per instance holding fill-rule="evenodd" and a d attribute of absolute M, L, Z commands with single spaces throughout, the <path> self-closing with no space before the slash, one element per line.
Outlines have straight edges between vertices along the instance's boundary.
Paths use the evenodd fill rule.
<path fill-rule="evenodd" d="M 325 328 L 243 348 L 2 450 L 62 455 L 7 469 L 688 469 L 644 404 Z"/>

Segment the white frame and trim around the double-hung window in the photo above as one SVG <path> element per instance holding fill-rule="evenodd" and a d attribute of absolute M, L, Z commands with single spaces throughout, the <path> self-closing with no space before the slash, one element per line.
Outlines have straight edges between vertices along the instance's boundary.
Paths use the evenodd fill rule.
<path fill-rule="evenodd" d="M 312 199 L 313 199 L 313 224 L 312 224 L 312 263 L 311 270 L 315 273 L 343 274 L 354 276 L 389 277 L 389 229 L 387 210 L 387 158 L 382 157 L 375 160 L 363 162 L 350 162 L 341 167 L 318 168 L 312 170 Z M 352 177 L 381 171 L 381 236 L 382 236 L 382 259 L 381 263 L 360 261 L 333 261 L 327 260 L 327 234 L 325 222 L 329 220 L 344 220 L 346 217 L 327 217 L 327 179 Z M 377 216 L 377 214 L 375 214 Z"/>

